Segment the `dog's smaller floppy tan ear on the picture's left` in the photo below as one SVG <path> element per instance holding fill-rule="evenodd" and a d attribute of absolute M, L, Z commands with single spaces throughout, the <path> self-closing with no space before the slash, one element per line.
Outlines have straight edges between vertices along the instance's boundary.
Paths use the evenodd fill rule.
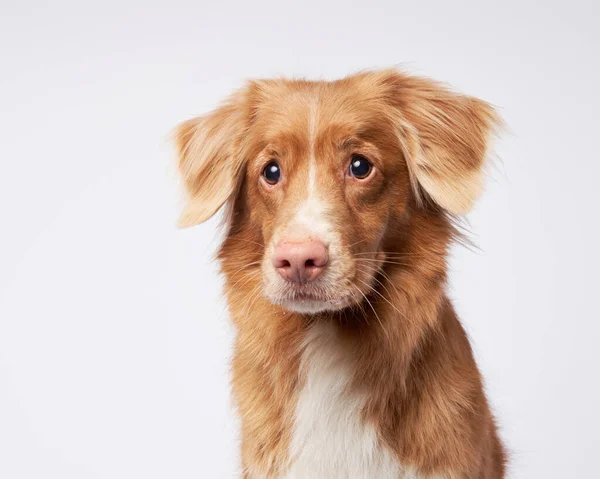
<path fill-rule="evenodd" d="M 236 149 L 246 128 L 245 99 L 245 91 L 239 91 L 215 111 L 175 130 L 178 169 L 188 195 L 179 227 L 206 221 L 234 195 L 242 166 Z"/>

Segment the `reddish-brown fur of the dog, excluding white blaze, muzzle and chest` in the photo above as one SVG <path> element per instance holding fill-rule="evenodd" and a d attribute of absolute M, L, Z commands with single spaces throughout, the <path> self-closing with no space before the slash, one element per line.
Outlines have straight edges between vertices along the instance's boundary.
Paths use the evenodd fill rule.
<path fill-rule="evenodd" d="M 302 197 L 298 178 L 306 175 L 305 110 L 311 96 L 320 102 L 316 154 L 331 169 L 319 181 L 332 191 L 331 201 L 344 205 L 332 221 L 353 254 L 374 252 L 373 261 L 355 271 L 356 281 L 375 278 L 371 288 L 359 284 L 373 309 L 361 303 L 306 316 L 261 295 L 264 245 Z M 216 177 L 211 182 L 225 175 L 223 184 L 232 185 L 215 204 L 206 206 L 211 197 L 203 196 L 202 208 L 209 213 L 201 209 L 192 222 L 210 216 L 225 201 L 221 197 L 231 198 L 232 218 L 219 259 L 238 331 L 233 392 L 242 419 L 243 463 L 266 477 L 285 471 L 303 381 L 301 342 L 312 322 L 333 321 L 344 347 L 356 358 L 352 386 L 368 394 L 364 421 L 376 427 L 401 464 L 422 475 L 503 478 L 505 453 L 481 376 L 445 294 L 446 256 L 455 230 L 451 216 L 439 205 L 455 203 L 436 196 L 437 190 L 429 194 L 415 171 L 423 169 L 444 186 L 471 178 L 482 168 L 494 120 L 491 108 L 428 80 L 389 71 L 333 83 L 255 82 L 232 102 L 226 108 L 236 110 L 235 118 L 225 120 L 220 110 L 187 122 L 179 141 L 190 203 L 197 201 L 194 195 L 203 187 L 207 165 Z M 440 115 L 448 121 L 432 125 L 428 120 Z M 235 132 L 230 143 L 213 147 L 207 158 L 190 166 L 194 129 L 211 131 L 225 121 Z M 346 137 L 354 143 L 336 146 Z M 274 146 L 285 150 L 277 153 L 287 155 L 287 170 L 293 171 L 286 179 L 285 197 L 283 190 L 263 191 L 257 181 L 264 157 Z M 348 183 L 336 196 L 336 158 L 356 148 L 377 156 L 386 174 L 367 186 Z M 427 164 L 413 161 L 415 149 L 426 153 Z M 457 184 L 440 191 L 451 195 L 461 188 L 465 200 L 457 209 L 462 209 L 472 194 L 462 191 L 464 182 Z M 376 252 L 385 252 L 385 259 L 377 261 Z"/>

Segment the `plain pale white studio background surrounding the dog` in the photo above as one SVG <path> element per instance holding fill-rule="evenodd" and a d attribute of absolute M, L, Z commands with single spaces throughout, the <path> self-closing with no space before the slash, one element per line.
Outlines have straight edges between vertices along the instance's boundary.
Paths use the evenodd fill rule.
<path fill-rule="evenodd" d="M 2 0 L 0 477 L 237 477 L 216 222 L 175 229 L 169 132 L 244 78 L 395 64 L 509 127 L 451 295 L 510 477 L 598 477 L 598 7 L 485 3 Z"/>

